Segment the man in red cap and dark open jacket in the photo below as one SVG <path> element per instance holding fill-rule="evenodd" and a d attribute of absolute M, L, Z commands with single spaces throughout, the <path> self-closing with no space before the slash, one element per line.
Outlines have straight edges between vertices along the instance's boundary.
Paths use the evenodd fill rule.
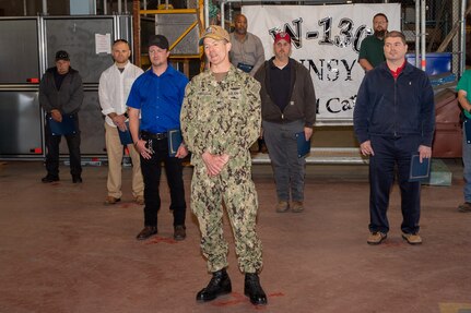
<path fill-rule="evenodd" d="M 290 58 L 290 34 L 275 34 L 273 52 L 255 75 L 261 84 L 263 139 L 276 184 L 276 212 L 301 213 L 306 159 L 298 157 L 296 134 L 304 133 L 306 141 L 313 135 L 316 95 L 309 71 Z"/>

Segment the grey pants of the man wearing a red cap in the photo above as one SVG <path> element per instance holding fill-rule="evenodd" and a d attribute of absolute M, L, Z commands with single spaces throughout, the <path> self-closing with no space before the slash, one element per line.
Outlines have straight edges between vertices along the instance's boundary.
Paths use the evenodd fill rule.
<path fill-rule="evenodd" d="M 306 158 L 297 157 L 296 133 L 304 131 L 304 121 L 273 123 L 262 121 L 263 139 L 274 173 L 279 201 L 303 201 Z"/>

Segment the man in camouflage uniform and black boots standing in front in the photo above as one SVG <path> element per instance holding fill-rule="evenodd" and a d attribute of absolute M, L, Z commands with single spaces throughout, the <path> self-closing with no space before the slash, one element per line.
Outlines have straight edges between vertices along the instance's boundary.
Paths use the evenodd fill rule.
<path fill-rule="evenodd" d="M 245 273 L 245 294 L 256 305 L 266 304 L 258 277 L 262 256 L 255 230 L 258 201 L 249 154 L 260 132 L 260 84 L 231 64 L 229 36 L 224 28 L 210 26 L 200 39 L 202 44 L 211 68 L 188 84 L 180 115 L 195 166 L 191 208 L 200 225 L 201 250 L 213 275 L 198 292 L 197 301 L 232 291 L 225 269 L 228 244 L 223 237 L 224 201 L 238 265 Z"/>

